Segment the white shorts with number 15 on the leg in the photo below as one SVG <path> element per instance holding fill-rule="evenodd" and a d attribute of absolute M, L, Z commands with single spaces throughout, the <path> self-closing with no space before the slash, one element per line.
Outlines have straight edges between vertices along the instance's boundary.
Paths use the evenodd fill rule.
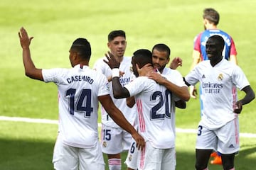
<path fill-rule="evenodd" d="M 119 154 L 128 150 L 132 143 L 132 135 L 122 128 L 112 128 L 102 124 L 101 147 L 105 154 Z"/>

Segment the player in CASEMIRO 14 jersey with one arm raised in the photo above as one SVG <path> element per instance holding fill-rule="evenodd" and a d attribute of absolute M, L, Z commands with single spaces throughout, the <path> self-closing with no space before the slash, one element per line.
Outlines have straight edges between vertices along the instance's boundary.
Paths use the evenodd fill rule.
<path fill-rule="evenodd" d="M 106 77 L 88 67 L 91 47 L 85 38 L 76 39 L 70 47 L 73 68 L 38 69 L 29 48 L 33 37 L 28 38 L 24 28 L 18 35 L 26 76 L 58 86 L 59 128 L 53 152 L 54 169 L 105 169 L 97 131 L 99 101 L 112 119 L 131 133 L 139 149 L 144 147 L 144 138 L 114 106 Z"/>

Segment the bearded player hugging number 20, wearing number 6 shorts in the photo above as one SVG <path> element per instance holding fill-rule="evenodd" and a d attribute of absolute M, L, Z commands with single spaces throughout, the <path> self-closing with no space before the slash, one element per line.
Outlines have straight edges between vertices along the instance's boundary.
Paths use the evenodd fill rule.
<path fill-rule="evenodd" d="M 174 70 L 174 69 L 169 69 L 166 67 L 166 64 L 169 63 L 170 60 L 170 54 L 171 50 L 170 48 L 165 45 L 165 44 L 156 44 L 152 48 L 152 62 L 154 69 L 157 70 L 157 72 L 161 73 L 156 73 L 154 74 L 154 70 L 151 69 L 150 64 L 146 64 L 142 69 L 139 70 L 139 74 L 145 75 L 149 72 L 153 72 L 152 74 L 149 74 L 152 79 L 155 78 L 155 81 L 158 81 L 158 83 L 169 87 L 169 91 L 171 91 L 173 94 L 175 94 L 178 98 L 178 101 L 175 101 L 175 106 L 178 108 L 186 108 L 186 102 L 190 98 L 189 92 L 188 92 L 188 87 L 186 84 L 183 83 L 183 78 L 181 74 Z M 178 67 L 176 64 L 181 64 L 182 60 L 180 60 L 178 57 L 174 58 L 174 60 L 177 60 L 175 62 L 172 62 L 171 64 L 172 68 Z M 163 75 L 162 75 L 163 74 Z M 164 75 L 170 76 L 170 77 L 175 77 L 173 82 L 168 81 L 167 79 L 164 78 Z M 178 86 L 175 86 L 174 84 L 177 84 Z M 174 89 L 175 88 L 175 89 Z M 174 106 L 174 105 L 172 105 Z M 171 120 L 172 120 L 172 125 L 173 125 L 173 130 L 175 134 L 175 107 L 171 108 Z M 134 147 L 135 142 L 132 143 L 132 146 L 129 149 L 129 152 L 127 154 L 127 159 L 125 163 L 127 164 L 127 169 L 132 170 L 132 169 L 137 169 L 137 148 Z"/>

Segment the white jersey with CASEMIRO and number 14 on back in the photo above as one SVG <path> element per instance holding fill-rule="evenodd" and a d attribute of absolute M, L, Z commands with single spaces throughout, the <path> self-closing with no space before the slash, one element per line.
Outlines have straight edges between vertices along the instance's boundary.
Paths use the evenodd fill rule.
<path fill-rule="evenodd" d="M 66 145 L 94 147 L 98 140 L 98 96 L 110 94 L 105 75 L 80 64 L 43 69 L 43 80 L 58 86 L 59 135 Z"/>

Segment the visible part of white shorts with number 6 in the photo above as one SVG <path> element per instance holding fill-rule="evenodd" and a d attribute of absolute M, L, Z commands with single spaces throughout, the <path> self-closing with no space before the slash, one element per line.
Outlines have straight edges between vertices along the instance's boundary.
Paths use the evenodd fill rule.
<path fill-rule="evenodd" d="M 136 142 L 133 140 L 132 145 L 127 153 L 127 159 L 125 159 L 124 164 L 127 164 L 128 168 L 137 169 L 137 159 L 138 159 L 139 150 L 136 147 Z"/>

